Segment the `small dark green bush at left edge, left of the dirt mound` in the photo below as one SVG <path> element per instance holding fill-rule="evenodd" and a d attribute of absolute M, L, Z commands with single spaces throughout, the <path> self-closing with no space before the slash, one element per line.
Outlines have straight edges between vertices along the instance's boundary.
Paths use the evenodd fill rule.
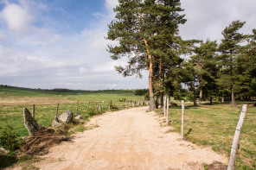
<path fill-rule="evenodd" d="M 22 145 L 22 140 L 18 139 L 18 136 L 13 131 L 12 126 L 9 125 L 6 129 L 3 129 L 3 133 L 0 136 L 0 145 L 10 151 L 15 151 Z"/>

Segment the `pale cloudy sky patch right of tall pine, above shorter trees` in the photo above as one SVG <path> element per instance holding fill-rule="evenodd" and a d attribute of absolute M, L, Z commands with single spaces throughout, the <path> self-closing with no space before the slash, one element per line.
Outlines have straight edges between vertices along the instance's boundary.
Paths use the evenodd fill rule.
<path fill-rule="evenodd" d="M 221 41 L 221 31 L 235 20 L 246 21 L 242 33 L 251 33 L 255 28 L 255 0 L 181 0 L 181 3 L 188 20 L 180 26 L 184 39 Z"/>

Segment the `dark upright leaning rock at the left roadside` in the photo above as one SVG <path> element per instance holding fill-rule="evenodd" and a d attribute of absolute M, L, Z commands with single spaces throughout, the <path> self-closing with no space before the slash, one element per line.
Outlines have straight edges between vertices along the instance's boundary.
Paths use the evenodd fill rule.
<path fill-rule="evenodd" d="M 31 116 L 31 113 L 27 108 L 23 109 L 24 124 L 26 129 L 29 131 L 29 135 L 35 135 L 35 132 L 41 127 L 36 123 L 35 119 Z"/>

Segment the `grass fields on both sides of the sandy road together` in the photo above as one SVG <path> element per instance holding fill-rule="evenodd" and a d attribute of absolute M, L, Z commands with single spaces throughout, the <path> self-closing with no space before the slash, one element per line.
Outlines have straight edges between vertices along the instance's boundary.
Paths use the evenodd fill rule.
<path fill-rule="evenodd" d="M 0 133 L 3 127 L 11 124 L 19 135 L 28 135 L 23 125 L 22 109 L 32 110 L 35 105 L 35 120 L 47 127 L 51 124 L 56 104 L 60 103 L 59 113 L 71 110 L 75 113 L 76 102 L 80 101 L 79 113 L 82 116 L 93 116 L 94 101 L 106 101 L 104 110 L 108 110 L 110 100 L 118 104 L 118 99 L 142 100 L 133 91 L 29 91 L 0 86 Z M 91 101 L 89 114 L 86 113 L 87 103 Z M 73 104 L 62 104 L 71 103 Z M 94 102 L 94 103 L 92 103 Z M 255 103 L 255 102 L 254 102 Z M 256 169 L 256 107 L 253 102 L 237 102 L 236 107 L 229 103 L 203 103 L 194 107 L 192 103 L 185 104 L 185 140 L 199 145 L 209 146 L 214 151 L 229 156 L 234 138 L 234 130 L 239 120 L 242 104 L 249 104 L 240 135 L 240 149 L 236 161 L 236 169 Z M 123 105 L 120 103 L 120 106 Z M 163 110 L 157 110 L 163 114 Z M 170 121 L 176 131 L 181 131 L 181 107 L 170 106 Z"/>

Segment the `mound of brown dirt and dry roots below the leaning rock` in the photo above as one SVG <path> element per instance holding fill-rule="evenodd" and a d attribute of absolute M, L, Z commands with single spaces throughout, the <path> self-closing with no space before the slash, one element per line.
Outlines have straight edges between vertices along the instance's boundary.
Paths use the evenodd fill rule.
<path fill-rule="evenodd" d="M 55 134 L 54 129 L 40 129 L 25 141 L 21 150 L 26 154 L 46 154 L 48 148 L 62 141 L 68 141 L 67 135 Z"/>

